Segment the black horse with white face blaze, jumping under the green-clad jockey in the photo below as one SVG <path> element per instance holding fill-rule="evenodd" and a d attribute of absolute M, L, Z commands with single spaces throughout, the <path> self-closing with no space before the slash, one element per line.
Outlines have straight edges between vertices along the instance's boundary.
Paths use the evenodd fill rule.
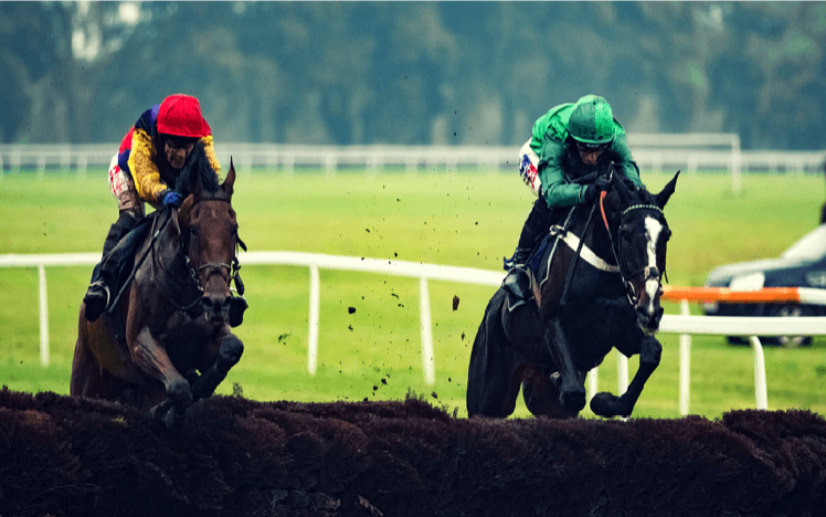
<path fill-rule="evenodd" d="M 551 228 L 558 239 L 533 272 L 534 298 L 511 307 L 499 288 L 485 309 L 470 355 L 469 416 L 508 416 L 520 386 L 534 415 L 575 416 L 585 374 L 612 348 L 639 355 L 639 368 L 625 393 L 597 393 L 591 410 L 631 415 L 663 350 L 654 336 L 670 236 L 663 208 L 678 176 L 652 194 L 613 173 L 594 207 L 576 207 Z"/>

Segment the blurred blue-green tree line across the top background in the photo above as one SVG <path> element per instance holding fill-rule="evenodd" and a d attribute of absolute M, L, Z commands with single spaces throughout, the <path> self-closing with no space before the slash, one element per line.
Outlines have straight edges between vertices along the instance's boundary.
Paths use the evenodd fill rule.
<path fill-rule="evenodd" d="M 0 141 L 107 143 L 172 93 L 223 141 L 519 145 L 605 96 L 634 133 L 824 147 L 826 2 L 0 0 Z"/>

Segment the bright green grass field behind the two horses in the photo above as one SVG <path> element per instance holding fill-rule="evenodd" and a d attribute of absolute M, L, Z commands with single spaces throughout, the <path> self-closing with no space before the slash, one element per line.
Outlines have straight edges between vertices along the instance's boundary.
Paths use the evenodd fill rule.
<path fill-rule="evenodd" d="M 670 179 L 646 173 L 653 191 Z M 500 270 L 533 198 L 515 173 L 363 171 L 242 172 L 234 205 L 250 250 L 293 250 Z M 667 209 L 674 238 L 668 277 L 700 285 L 714 266 L 776 256 L 817 224 L 820 177 L 749 175 L 742 191 L 730 178 L 684 175 Z M 97 252 L 116 204 L 103 171 L 85 178 L 53 171 L 45 178 L 0 179 L 0 254 Z M 242 254 L 243 263 L 243 254 Z M 233 384 L 256 400 L 398 400 L 409 390 L 458 408 L 470 347 L 491 287 L 431 282 L 436 383 L 423 379 L 419 281 L 321 270 L 318 371 L 307 372 L 309 273 L 304 267 L 244 266 L 251 309 L 236 334 L 245 352 L 219 392 Z M 91 267 L 50 267 L 51 365 L 39 359 L 38 272 L 0 270 L 0 383 L 21 391 L 68 392 L 77 309 Z M 454 296 L 460 299 L 452 309 Z M 356 313 L 349 314 L 348 307 Z M 698 312 L 697 307 L 692 307 Z M 666 312 L 676 314 L 677 305 Z M 664 355 L 636 416 L 676 418 L 678 337 L 660 335 Z M 717 418 L 754 407 L 753 357 L 720 337 L 696 336 L 691 352 L 691 413 Z M 770 409 L 826 413 L 826 339 L 807 349 L 765 350 Z M 629 360 L 631 374 L 637 358 Z M 616 390 L 616 357 L 600 368 L 600 386 Z M 521 400 L 518 416 L 528 414 Z M 584 414 L 591 415 L 590 410 Z"/>

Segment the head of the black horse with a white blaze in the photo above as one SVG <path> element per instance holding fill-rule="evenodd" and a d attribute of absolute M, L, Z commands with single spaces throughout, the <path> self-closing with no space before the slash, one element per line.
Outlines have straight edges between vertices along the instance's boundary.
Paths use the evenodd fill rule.
<path fill-rule="evenodd" d="M 663 209 L 674 193 L 678 176 L 679 171 L 659 193 L 652 194 L 628 187 L 615 173 L 603 202 L 628 300 L 646 331 L 657 330 L 663 317 L 659 297 L 671 236 Z"/>

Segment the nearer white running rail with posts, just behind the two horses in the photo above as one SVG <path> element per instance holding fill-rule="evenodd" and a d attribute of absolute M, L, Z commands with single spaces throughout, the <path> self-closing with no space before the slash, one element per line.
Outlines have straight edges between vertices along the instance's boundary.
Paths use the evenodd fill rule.
<path fill-rule="evenodd" d="M 41 363 L 49 365 L 49 307 L 46 299 L 45 267 L 56 266 L 93 266 L 100 255 L 96 253 L 63 253 L 43 255 L 0 255 L 0 267 L 38 267 L 40 273 L 40 358 Z M 325 255 L 301 252 L 248 252 L 242 255 L 243 265 L 288 265 L 306 266 L 310 271 L 309 306 L 309 342 L 307 369 L 316 372 L 318 354 L 318 327 L 320 306 L 320 283 L 318 270 L 345 270 L 367 273 L 380 273 L 420 278 L 421 286 L 421 338 L 422 367 L 424 380 L 435 382 L 435 357 L 433 354 L 433 334 L 431 328 L 431 307 L 427 282 L 445 281 L 468 284 L 501 284 L 504 273 L 476 270 L 472 267 L 445 266 L 419 262 L 391 261 L 384 258 Z M 680 413 L 688 414 L 688 387 L 690 363 L 690 335 L 745 336 L 754 350 L 754 384 L 758 409 L 767 409 L 765 362 L 759 336 L 826 336 L 826 317 L 806 318 L 758 318 L 758 317 L 708 317 L 689 316 L 688 302 L 682 300 L 681 315 L 665 315 L 659 331 L 680 335 Z M 628 386 L 627 359 L 617 354 L 618 390 L 624 392 Z M 596 392 L 596 369 L 589 377 L 589 394 Z"/>

